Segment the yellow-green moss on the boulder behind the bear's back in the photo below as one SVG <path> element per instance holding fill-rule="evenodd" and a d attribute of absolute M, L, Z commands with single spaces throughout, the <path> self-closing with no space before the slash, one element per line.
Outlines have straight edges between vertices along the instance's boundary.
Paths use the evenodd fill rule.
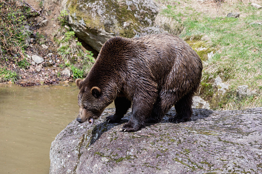
<path fill-rule="evenodd" d="M 143 2 L 138 4 L 139 9 L 137 9 L 134 4 L 127 5 L 125 2 L 119 3 L 114 0 L 106 0 L 104 1 L 104 4 L 106 5 L 104 14 L 107 14 L 107 16 L 115 16 L 115 19 L 107 18 L 106 16 L 106 20 L 111 21 L 111 23 L 115 23 L 114 20 L 116 20 L 117 23 L 113 26 L 110 23 L 104 25 L 101 22 L 99 15 L 94 16 L 91 15 L 91 13 L 86 14 L 86 11 L 94 10 L 91 7 L 86 7 L 86 4 L 98 4 L 97 2 L 99 1 L 84 0 L 80 4 L 77 0 L 69 0 L 67 2 L 67 7 L 69 13 L 72 16 L 76 16 L 78 22 L 83 20 L 89 29 L 104 29 L 106 32 L 115 32 L 117 35 L 129 38 L 135 36 L 135 31 L 141 32 L 141 26 L 148 27 L 150 24 L 147 19 L 149 18 L 153 21 L 154 16 L 156 15 L 156 12 L 150 11 L 145 5 L 143 5 Z"/>

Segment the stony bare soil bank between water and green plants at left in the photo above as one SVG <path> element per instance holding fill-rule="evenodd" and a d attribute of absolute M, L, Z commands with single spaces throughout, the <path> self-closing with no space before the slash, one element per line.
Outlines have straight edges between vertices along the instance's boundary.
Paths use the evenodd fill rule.
<path fill-rule="evenodd" d="M 60 65 L 63 65 L 65 60 L 58 54 L 58 45 L 54 42 L 54 33 L 60 28 L 57 20 L 60 10 L 57 9 L 46 15 L 44 7 L 40 7 L 40 1 L 27 0 L 25 3 L 31 8 L 31 11 L 37 11 L 40 15 L 31 16 L 25 24 L 30 26 L 29 30 L 31 31 L 30 43 L 25 50 L 26 59 L 31 65 L 27 68 L 20 68 L 16 66 L 16 62 L 20 60 L 10 61 L 6 64 L 7 69 L 14 70 L 19 75 L 19 80 L 15 84 L 34 86 L 73 82 L 72 76 L 66 76 L 61 72 L 64 67 Z M 54 6 L 54 8 L 58 8 L 58 6 Z M 46 25 L 42 24 L 44 20 L 48 21 Z M 44 49 L 42 45 L 46 45 L 48 48 Z M 35 64 L 31 60 L 32 55 L 42 56 L 44 62 Z M 24 59 L 24 55 L 22 58 Z"/>

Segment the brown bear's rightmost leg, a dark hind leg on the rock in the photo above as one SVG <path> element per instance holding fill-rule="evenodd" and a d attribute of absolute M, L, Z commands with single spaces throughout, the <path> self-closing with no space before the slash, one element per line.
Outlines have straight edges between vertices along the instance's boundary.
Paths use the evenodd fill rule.
<path fill-rule="evenodd" d="M 181 98 L 176 104 L 174 104 L 174 108 L 176 108 L 177 114 L 175 117 L 171 117 L 168 120 L 170 122 L 187 122 L 192 116 L 192 98 L 194 92 L 189 92 L 183 98 Z"/>

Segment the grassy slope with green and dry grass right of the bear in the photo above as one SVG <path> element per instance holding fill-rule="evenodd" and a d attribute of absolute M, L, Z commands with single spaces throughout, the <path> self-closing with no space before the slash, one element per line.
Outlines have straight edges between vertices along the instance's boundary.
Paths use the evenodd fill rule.
<path fill-rule="evenodd" d="M 210 99 L 215 92 L 212 83 L 220 76 L 223 82 L 230 84 L 230 91 L 227 99 L 216 109 L 261 107 L 262 25 L 250 23 L 262 21 L 262 9 L 258 10 L 240 1 L 233 4 L 225 1 L 222 5 L 225 14 L 208 15 L 199 12 L 200 7 L 194 1 L 159 3 L 166 7 L 162 10 L 164 16 L 183 25 L 180 36 L 188 40 L 189 45 L 193 48 L 194 44 L 204 47 L 199 44 L 204 42 L 205 47 L 215 52 L 212 59 L 202 59 L 204 69 L 201 88 L 205 90 L 201 90 L 200 95 Z M 240 17 L 228 18 L 228 12 L 239 12 Z M 236 97 L 239 85 L 248 85 L 251 90 L 256 90 L 256 94 L 247 98 Z"/>

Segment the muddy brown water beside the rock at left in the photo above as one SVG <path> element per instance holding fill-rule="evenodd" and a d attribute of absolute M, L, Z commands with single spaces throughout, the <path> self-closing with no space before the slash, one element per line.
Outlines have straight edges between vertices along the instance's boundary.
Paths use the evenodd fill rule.
<path fill-rule="evenodd" d="M 51 142 L 76 119 L 78 91 L 0 85 L 0 173 L 49 173 Z"/>

